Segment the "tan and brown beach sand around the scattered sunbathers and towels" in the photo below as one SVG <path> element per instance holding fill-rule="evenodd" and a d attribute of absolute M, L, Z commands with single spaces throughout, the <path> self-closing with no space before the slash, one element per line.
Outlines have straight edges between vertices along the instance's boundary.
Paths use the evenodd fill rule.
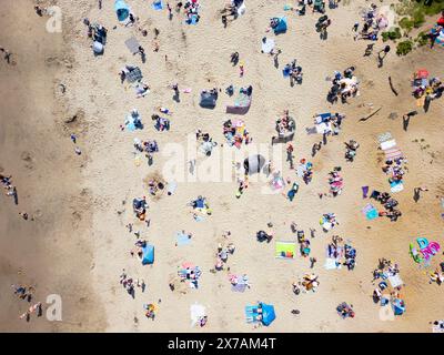
<path fill-rule="evenodd" d="M 408 243 L 421 235 L 444 245 L 440 234 L 443 226 L 440 201 L 435 197 L 444 194 L 441 187 L 442 100 L 432 102 L 427 114 L 414 116 L 407 132 L 402 129 L 402 115 L 416 109 L 410 95 L 411 73 L 425 67 L 432 74 L 442 77 L 442 52 L 422 49 L 398 58 L 392 48 L 384 67 L 377 69 L 374 57 L 362 57 L 367 43 L 353 41 L 352 26 L 360 8 L 367 4 L 353 1 L 327 10 L 333 23 L 326 41 L 321 41 L 314 31 L 317 14 L 310 11 L 305 17 L 286 13 L 289 31 L 275 39 L 282 49 L 281 67 L 276 70 L 272 59 L 260 52 L 260 41 L 265 36 L 269 18 L 284 14 L 282 9 L 286 1 L 248 0 L 246 13 L 229 23 L 226 29 L 218 16 L 224 4 L 221 0 L 211 3 L 202 0 L 202 17 L 195 27 L 184 24 L 182 16 L 179 19 L 174 14 L 169 21 L 167 11 L 157 12 L 147 1 L 128 2 L 149 30 L 148 37 L 142 37 L 135 28 L 118 24 L 109 3 L 98 10 L 91 1 L 57 1 L 64 14 L 62 34 L 44 31 L 46 20 L 32 13 L 30 1 L 17 1 L 1 10 L 2 26 L 9 26 L 13 37 L 0 34 L 0 43 L 17 53 L 17 65 L 0 63 L 0 90 L 4 98 L 1 102 L 0 161 L 4 171 L 13 175 L 20 205 L 18 210 L 6 196 L 1 197 L 0 328 L 249 332 L 252 326 L 245 323 L 243 308 L 258 300 L 274 304 L 278 315 L 270 327 L 259 328 L 259 332 L 428 332 L 430 321 L 443 318 L 440 307 L 443 288 L 428 284 L 428 277 L 408 255 Z M 92 55 L 82 23 L 84 17 L 109 29 L 103 57 Z M 160 30 L 158 53 L 151 51 L 154 27 Z M 29 36 L 31 29 L 32 37 Z M 124 45 L 124 40 L 132 34 L 147 50 L 145 64 L 141 64 L 140 58 L 133 57 Z M 375 47 L 379 49 L 383 44 L 379 42 Z M 244 78 L 239 78 L 239 68 L 230 64 L 233 51 L 239 51 L 244 62 Z M 290 88 L 281 69 L 293 58 L 303 68 L 304 81 L 302 85 Z M 151 85 L 147 98 L 135 99 L 132 89 L 125 90 L 120 84 L 117 73 L 125 63 L 141 67 Z M 325 101 L 330 89 L 325 78 L 334 70 L 350 65 L 356 67 L 361 95 L 350 100 L 350 104 L 332 106 Z M 398 97 L 390 90 L 389 75 Z M 68 88 L 64 95 L 58 92 L 60 80 Z M 171 99 L 172 92 L 167 88 L 175 81 L 181 88 L 193 90 L 191 94 L 181 94 L 180 103 Z M 184 145 L 186 135 L 198 128 L 209 132 L 216 142 L 224 141 L 224 105 L 232 99 L 222 93 L 215 110 L 209 111 L 199 108 L 198 95 L 202 89 L 224 89 L 230 83 L 254 88 L 251 110 L 244 116 L 254 143 L 270 142 L 276 114 L 290 110 L 297 125 L 296 161 L 309 158 L 312 144 L 320 139 L 305 133 L 305 128 L 312 125 L 314 113 L 345 113 L 343 130 L 340 136 L 329 138 L 327 145 L 311 159 L 313 182 L 307 186 L 301 184 L 292 203 L 282 195 L 262 194 L 261 183 L 252 183 L 238 200 L 234 182 L 179 183 L 174 195 L 150 201 L 151 225 L 147 229 L 142 223 L 135 223 L 135 230 L 140 229 L 142 237 L 155 245 L 155 263 L 142 266 L 129 255 L 135 241 L 125 229 L 127 223 L 134 222 L 131 201 L 148 195 L 143 180 L 162 170 L 165 162 L 162 146 L 167 143 Z M 373 109 L 380 105 L 382 109 L 370 120 L 360 122 L 359 119 L 373 110 L 369 103 L 373 103 Z M 151 124 L 150 115 L 159 105 L 174 112 L 168 133 L 157 132 Z M 121 132 L 119 124 L 132 108 L 141 112 L 145 128 Z M 80 113 L 74 126 L 63 124 L 63 120 L 75 112 Z M 389 118 L 392 112 L 397 113 L 396 119 Z M 81 156 L 74 154 L 69 140 L 72 131 L 80 136 Z M 361 186 L 387 190 L 386 176 L 377 161 L 376 143 L 376 135 L 385 131 L 392 132 L 408 159 L 405 191 L 396 194 L 403 216 L 395 223 L 386 219 L 369 223 L 360 211 L 367 203 L 362 200 Z M 152 166 L 143 160 L 140 166 L 134 165 L 133 138 L 159 142 L 161 153 L 154 156 Z M 361 144 L 352 164 L 345 163 L 343 158 L 343 142 L 350 139 Z M 421 149 L 418 143 L 412 142 L 415 139 L 424 139 L 423 145 L 430 146 Z M 31 154 L 31 169 L 27 168 L 29 162 L 21 159 L 23 152 Z M 317 193 L 327 190 L 327 173 L 336 165 L 343 168 L 345 189 L 336 199 L 320 200 Z M 284 176 L 293 178 L 293 174 L 285 165 Z M 422 184 L 430 191 L 414 203 L 413 189 Z M 196 223 L 185 204 L 200 194 L 208 197 L 213 213 Z M 125 201 L 124 205 L 122 201 Z M 24 205 L 30 213 L 39 215 L 36 222 L 24 222 L 17 215 Z M 336 213 L 340 225 L 323 234 L 319 219 L 326 212 Z M 310 271 L 307 260 L 276 260 L 274 243 L 255 241 L 255 232 L 264 229 L 266 222 L 273 222 L 276 240 L 291 239 L 292 221 L 296 221 L 306 234 L 310 227 L 317 230 L 312 240 L 312 255 L 317 258 L 314 272 L 320 275 L 321 285 L 315 294 L 295 297 L 291 292 L 294 278 Z M 174 234 L 181 230 L 193 233 L 192 244 L 175 247 Z M 251 290 L 243 294 L 230 290 L 226 272 L 209 272 L 224 230 L 232 232 L 231 241 L 236 246 L 229 260 L 231 272 L 246 273 L 252 283 Z M 357 265 L 353 272 L 324 270 L 324 248 L 332 234 L 350 240 L 357 248 Z M 379 257 L 397 262 L 406 283 L 402 294 L 407 311 L 393 322 L 380 320 L 380 306 L 371 298 L 374 288 L 371 273 Z M 190 290 L 182 295 L 172 293 L 168 281 L 184 261 L 199 265 L 203 275 L 200 290 Z M 442 255 L 435 257 L 433 265 L 438 262 L 442 262 Z M 122 268 L 147 282 L 145 293 L 137 290 L 135 300 L 119 284 Z M 22 271 L 20 275 L 17 274 L 19 270 Z M 24 323 L 17 320 L 24 304 L 11 295 L 10 284 L 20 281 L 36 284 L 40 298 L 49 293 L 61 294 L 63 322 L 49 323 L 39 318 Z M 155 321 L 144 320 L 143 303 L 158 303 L 159 298 Z M 354 320 L 343 321 L 337 316 L 335 306 L 343 301 L 354 305 Z M 189 307 L 194 302 L 206 306 L 209 322 L 204 328 L 190 327 Z M 301 315 L 293 316 L 292 308 L 299 308 Z M 139 321 L 134 322 L 134 317 Z"/>

